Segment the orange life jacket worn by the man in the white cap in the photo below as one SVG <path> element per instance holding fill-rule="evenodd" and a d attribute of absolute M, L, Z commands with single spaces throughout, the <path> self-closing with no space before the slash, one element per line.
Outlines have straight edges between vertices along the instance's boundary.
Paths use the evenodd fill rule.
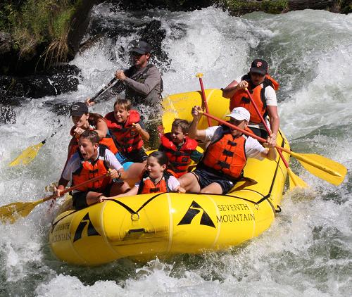
<path fill-rule="evenodd" d="M 243 135 L 234 139 L 230 133 L 225 133 L 219 140 L 209 144 L 201 163 L 232 179 L 237 179 L 241 176 L 247 161 L 245 144 L 246 137 Z"/>

